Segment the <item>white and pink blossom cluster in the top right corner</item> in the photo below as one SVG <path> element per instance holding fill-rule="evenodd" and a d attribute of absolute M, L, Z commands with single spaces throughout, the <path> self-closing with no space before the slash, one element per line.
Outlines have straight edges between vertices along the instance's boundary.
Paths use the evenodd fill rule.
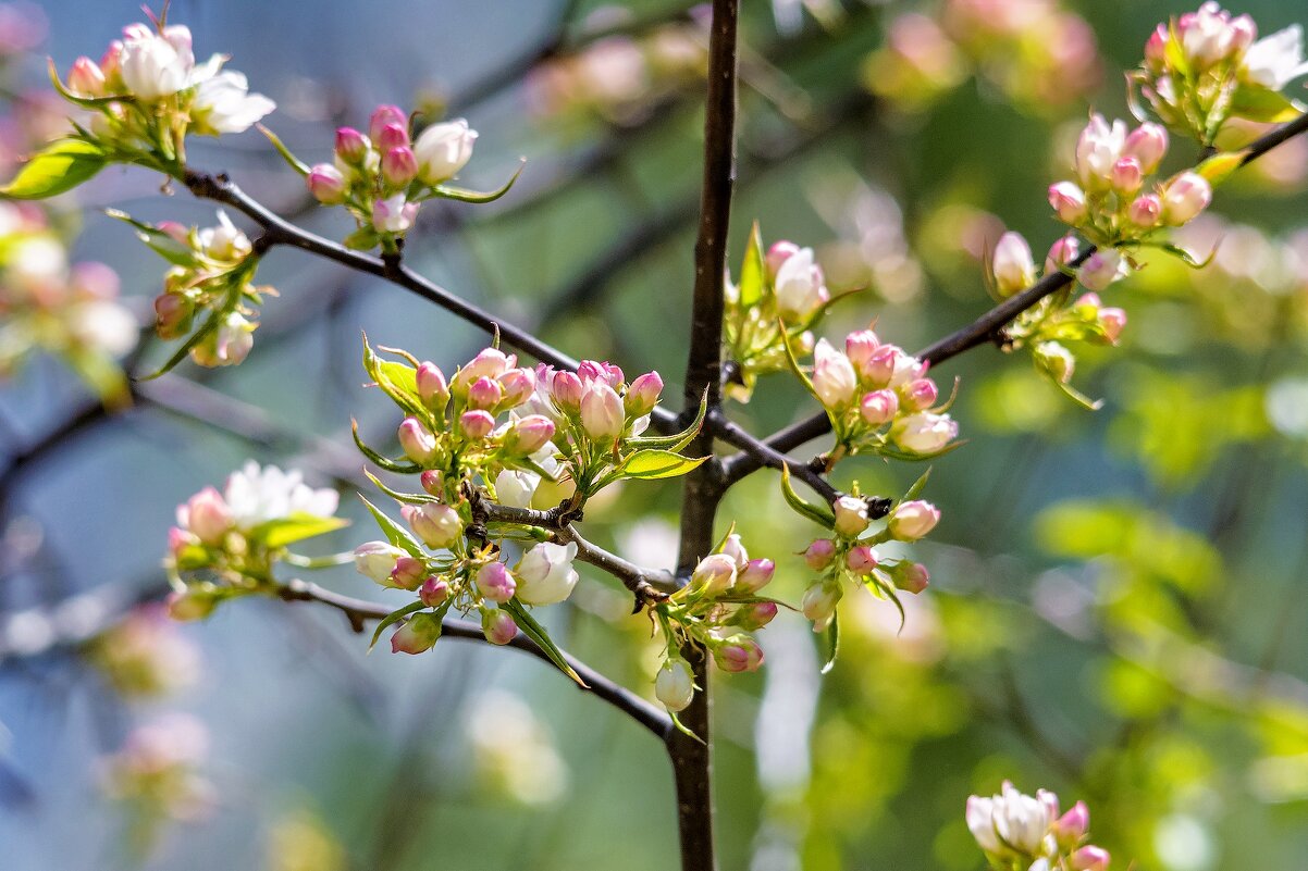
<path fill-rule="evenodd" d="M 1213 145 L 1228 122 L 1298 116 L 1303 106 L 1281 90 L 1304 73 L 1299 25 L 1258 39 L 1253 18 L 1210 1 L 1160 24 L 1129 81 L 1164 124 Z"/>

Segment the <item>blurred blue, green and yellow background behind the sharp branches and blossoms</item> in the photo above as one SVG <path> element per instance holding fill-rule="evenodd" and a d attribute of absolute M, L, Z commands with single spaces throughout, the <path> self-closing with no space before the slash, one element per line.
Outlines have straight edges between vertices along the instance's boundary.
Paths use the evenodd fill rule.
<path fill-rule="evenodd" d="M 1016 22 L 995 35 L 952 1 L 746 5 L 732 260 L 755 217 L 769 241 L 814 245 L 833 288 L 866 288 L 825 332 L 878 318 L 906 348 L 986 307 L 980 256 L 1005 228 L 1037 250 L 1057 237 L 1044 192 L 1063 178 L 1070 137 L 1090 106 L 1126 115 L 1121 72 L 1185 10 L 995 0 Z M 48 35 L 10 52 L 16 116 L 39 110 L 43 54 L 67 69 L 140 18 L 128 0 L 17 9 Z M 1275 0 L 1237 10 L 1264 33 L 1303 14 Z M 411 263 L 573 354 L 657 367 L 679 395 L 702 123 L 696 10 L 174 0 L 171 17 L 198 54 L 232 54 L 277 101 L 271 124 L 307 161 L 379 101 L 467 116 L 480 131 L 472 187 L 497 187 L 526 157 L 500 203 L 426 208 Z M 9 127 L 12 165 L 29 145 Z M 1175 148 L 1179 166 L 1188 149 Z M 347 230 L 255 132 L 198 146 L 192 162 L 317 231 Z M 1209 269 L 1156 262 L 1112 290 L 1131 319 L 1122 347 L 1084 354 L 1076 377 L 1103 398 L 1097 413 L 1022 356 L 981 348 L 940 369 L 963 378 L 955 415 L 969 442 L 935 462 L 927 497 L 944 519 L 914 547 L 933 583 L 904 630 L 887 603 L 846 603 L 841 660 L 819 677 L 807 624 L 781 617 L 761 636 L 761 674 L 717 680 L 723 868 L 980 868 L 963 803 L 1005 777 L 1086 799 L 1122 867 L 1303 867 L 1305 175 L 1292 143 L 1224 187 L 1222 217 L 1190 233 L 1205 252 L 1220 241 Z M 128 170 L 61 205 L 72 258 L 116 269 L 144 318 L 164 265 L 102 214 L 110 205 L 200 225 L 213 208 Z M 485 340 L 294 251 L 275 251 L 260 280 L 281 296 L 238 369 L 186 364 L 118 415 L 48 357 L 0 387 L 0 866 L 672 867 L 662 749 L 511 651 L 442 642 L 365 657 L 336 613 L 242 599 L 175 630 L 131 624 L 169 692 L 124 694 L 97 657 L 97 633 L 160 596 L 178 502 L 249 456 L 331 484 L 360 464 L 352 415 L 378 441 L 394 432 L 392 409 L 362 387 L 360 330 L 442 366 Z M 166 354 L 148 341 L 132 361 L 146 371 Z M 785 378 L 734 409 L 760 433 L 811 412 Z M 886 493 L 921 471 L 846 466 L 837 484 Z M 344 505 L 356 527 L 323 552 L 375 538 L 349 490 Z M 629 485 L 586 527 L 670 565 L 675 507 L 675 484 Z M 808 578 L 789 555 L 816 530 L 783 506 L 776 476 L 743 484 L 723 518 L 777 557 L 774 587 L 797 600 Z M 583 577 L 555 637 L 649 687 L 647 626 L 610 579 Z M 349 568 L 323 582 L 382 595 Z M 106 759 L 178 711 L 208 732 L 194 800 L 152 813 L 114 800 Z"/>

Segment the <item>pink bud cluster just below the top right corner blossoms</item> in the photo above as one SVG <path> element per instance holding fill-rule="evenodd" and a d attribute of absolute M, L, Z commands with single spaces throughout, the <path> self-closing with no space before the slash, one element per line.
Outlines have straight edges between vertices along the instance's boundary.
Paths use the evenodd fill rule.
<path fill-rule="evenodd" d="M 1127 131 L 1126 122 L 1109 124 L 1092 115 L 1076 141 L 1076 180 L 1049 188 L 1049 204 L 1063 224 L 1095 245 L 1113 248 L 1141 243 L 1162 228 L 1194 220 L 1213 201 L 1213 186 L 1194 171 L 1152 180 L 1167 156 L 1167 131 L 1143 123 Z M 1083 269 L 1083 284 L 1101 290 L 1114 280 L 1107 265 Z"/>

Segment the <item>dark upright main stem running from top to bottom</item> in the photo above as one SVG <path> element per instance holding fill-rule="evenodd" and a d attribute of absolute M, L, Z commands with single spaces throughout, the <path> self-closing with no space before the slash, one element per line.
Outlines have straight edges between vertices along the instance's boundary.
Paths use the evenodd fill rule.
<path fill-rule="evenodd" d="M 700 234 L 695 245 L 695 298 L 691 313 L 691 348 L 685 367 L 685 404 L 695 408 L 708 391 L 710 413 L 721 405 L 722 281 L 726 271 L 727 226 L 735 183 L 736 18 L 739 0 L 713 0 L 709 39 L 708 101 L 704 116 L 704 186 L 700 194 Z M 710 428 L 687 451 L 713 453 Z M 689 574 L 713 547 L 713 521 L 725 484 L 721 466 L 705 463 L 687 476 L 681 498 L 681 545 L 678 573 Z M 704 739 L 674 731 L 667 742 L 676 779 L 678 828 L 683 871 L 713 871 L 713 765 L 710 755 L 710 687 L 708 657 L 687 645 L 681 655 L 695 672 L 700 692 L 681 713 L 687 728 Z"/>

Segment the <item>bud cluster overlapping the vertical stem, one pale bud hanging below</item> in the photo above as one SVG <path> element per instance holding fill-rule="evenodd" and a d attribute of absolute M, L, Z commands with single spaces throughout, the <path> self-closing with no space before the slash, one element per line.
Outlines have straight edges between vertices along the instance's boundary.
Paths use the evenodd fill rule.
<path fill-rule="evenodd" d="M 759 595 L 774 570 L 772 560 L 751 560 L 732 532 L 700 560 L 687 586 L 654 607 L 666 642 L 654 694 L 664 708 L 676 714 L 695 697 L 693 674 L 680 654 L 688 643 L 706 651 L 722 671 L 759 670 L 763 649 L 749 633 L 777 616 L 777 602 Z"/>

